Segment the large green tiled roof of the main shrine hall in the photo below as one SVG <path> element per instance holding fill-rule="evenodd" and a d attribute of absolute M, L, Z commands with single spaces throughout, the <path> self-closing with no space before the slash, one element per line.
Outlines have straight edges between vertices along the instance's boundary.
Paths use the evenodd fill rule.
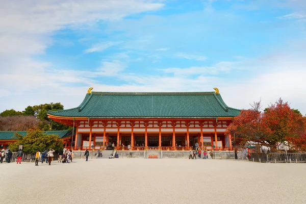
<path fill-rule="evenodd" d="M 76 108 L 48 111 L 53 116 L 89 118 L 214 118 L 239 113 L 215 92 L 92 92 Z"/>

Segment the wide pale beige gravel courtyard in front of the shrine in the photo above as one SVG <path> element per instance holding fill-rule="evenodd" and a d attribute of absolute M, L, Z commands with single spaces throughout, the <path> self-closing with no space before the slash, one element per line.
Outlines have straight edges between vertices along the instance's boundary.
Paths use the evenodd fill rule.
<path fill-rule="evenodd" d="M 306 203 L 305 170 L 199 159 L 3 163 L 1 203 Z"/>

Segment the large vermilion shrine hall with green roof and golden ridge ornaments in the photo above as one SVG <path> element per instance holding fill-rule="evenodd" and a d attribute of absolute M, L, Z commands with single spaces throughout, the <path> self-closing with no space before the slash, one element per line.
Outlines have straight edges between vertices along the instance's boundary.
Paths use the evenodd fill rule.
<path fill-rule="evenodd" d="M 74 149 L 186 150 L 199 146 L 232 148 L 227 126 L 240 110 L 228 107 L 214 92 L 92 92 L 80 106 L 48 111 L 48 117 L 74 126 Z"/>

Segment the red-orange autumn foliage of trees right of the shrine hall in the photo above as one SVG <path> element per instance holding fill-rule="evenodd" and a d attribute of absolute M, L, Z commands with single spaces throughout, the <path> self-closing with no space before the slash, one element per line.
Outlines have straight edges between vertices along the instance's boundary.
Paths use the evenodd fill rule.
<path fill-rule="evenodd" d="M 242 144 L 252 141 L 273 148 L 288 141 L 292 148 L 306 150 L 306 118 L 281 98 L 264 112 L 260 102 L 254 103 L 251 109 L 242 110 L 226 132 L 236 135 Z"/>

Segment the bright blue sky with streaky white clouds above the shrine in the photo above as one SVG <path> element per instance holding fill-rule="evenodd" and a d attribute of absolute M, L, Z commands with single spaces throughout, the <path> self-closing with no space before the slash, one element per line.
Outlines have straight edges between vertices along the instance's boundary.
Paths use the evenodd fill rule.
<path fill-rule="evenodd" d="M 27 9 L 24 9 L 27 8 Z M 78 106 L 93 91 L 279 97 L 306 113 L 306 1 L 6 1 L 0 111 Z"/>

